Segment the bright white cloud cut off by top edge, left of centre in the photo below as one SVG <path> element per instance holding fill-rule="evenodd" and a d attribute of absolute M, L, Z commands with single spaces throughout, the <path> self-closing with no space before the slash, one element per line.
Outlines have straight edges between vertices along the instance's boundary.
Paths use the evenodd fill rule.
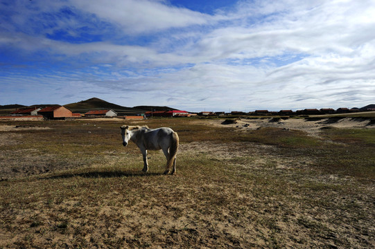
<path fill-rule="evenodd" d="M 155 33 L 168 28 L 207 24 L 211 18 L 186 8 L 150 0 L 73 0 L 71 5 L 116 23 L 125 33 Z"/>

